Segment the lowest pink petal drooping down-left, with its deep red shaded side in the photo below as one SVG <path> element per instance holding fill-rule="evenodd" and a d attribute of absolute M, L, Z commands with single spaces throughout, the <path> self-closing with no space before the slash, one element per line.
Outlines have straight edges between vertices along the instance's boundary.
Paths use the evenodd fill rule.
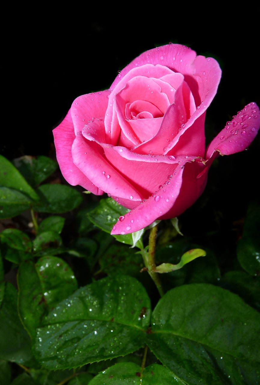
<path fill-rule="evenodd" d="M 111 234 L 132 233 L 150 225 L 158 218 L 172 218 L 185 211 L 205 187 L 207 175 L 197 179 L 197 174 L 203 167 L 205 168 L 202 163 L 197 162 L 187 163 L 185 167 L 178 164 L 173 176 L 165 181 L 162 188 L 126 214 L 124 219 L 120 217 L 113 226 Z"/>

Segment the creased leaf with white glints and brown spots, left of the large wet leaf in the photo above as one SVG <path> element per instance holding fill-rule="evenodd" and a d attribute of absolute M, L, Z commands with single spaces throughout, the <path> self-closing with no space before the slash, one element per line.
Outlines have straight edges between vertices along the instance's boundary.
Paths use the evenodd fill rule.
<path fill-rule="evenodd" d="M 43 257 L 20 265 L 18 309 L 28 333 L 35 337 L 44 315 L 77 289 L 72 270 L 62 259 Z"/>

